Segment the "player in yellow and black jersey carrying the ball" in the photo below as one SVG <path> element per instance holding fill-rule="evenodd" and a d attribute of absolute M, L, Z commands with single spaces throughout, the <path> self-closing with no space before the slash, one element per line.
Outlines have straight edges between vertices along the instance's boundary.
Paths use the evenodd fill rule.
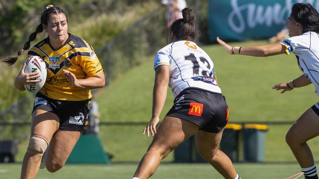
<path fill-rule="evenodd" d="M 41 14 L 29 40 L 19 50 L 18 56 L 4 60 L 12 65 L 37 33 L 48 33 L 46 39 L 33 46 L 28 56 L 40 56 L 46 63 L 47 79 L 36 94 L 31 122 L 31 138 L 24 156 L 21 178 L 35 178 L 45 152 L 45 166 L 49 172 L 63 167 L 83 131 L 88 130 L 88 116 L 91 107 L 90 89 L 105 84 L 101 64 L 93 48 L 85 40 L 68 33 L 68 19 L 65 12 L 52 5 Z M 14 85 L 20 91 L 23 84 L 38 82 L 32 80 L 38 73 L 24 73 L 23 65 Z M 44 168 L 44 167 L 43 167 Z"/>

